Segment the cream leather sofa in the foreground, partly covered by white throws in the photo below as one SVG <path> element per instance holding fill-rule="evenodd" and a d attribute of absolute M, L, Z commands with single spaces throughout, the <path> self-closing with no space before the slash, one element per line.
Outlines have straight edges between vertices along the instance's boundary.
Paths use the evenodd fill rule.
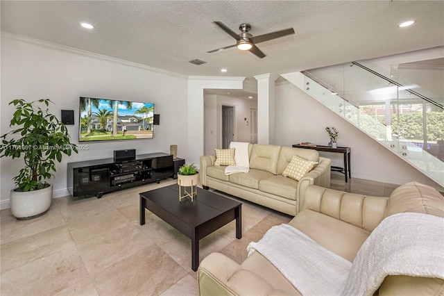
<path fill-rule="evenodd" d="M 444 197 L 433 188 L 416 182 L 398 187 L 390 197 L 309 186 L 300 204 L 300 213 L 289 225 L 350 262 L 385 217 L 404 212 L 444 217 Z M 254 252 L 241 264 L 220 253 L 210 254 L 200 263 L 198 283 L 200 295 L 300 295 L 259 252 Z M 444 295 L 444 281 L 388 276 L 379 286 L 379 295 Z"/>

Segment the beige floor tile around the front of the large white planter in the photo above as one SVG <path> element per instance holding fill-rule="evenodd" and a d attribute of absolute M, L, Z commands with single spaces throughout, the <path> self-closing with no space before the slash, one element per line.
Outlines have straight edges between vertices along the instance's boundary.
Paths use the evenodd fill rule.
<path fill-rule="evenodd" d="M 51 204 L 51 208 L 44 215 L 31 220 L 17 220 L 10 213 L 10 209 L 1 211 L 0 222 L 1 244 L 12 242 L 33 234 L 40 233 L 49 229 L 64 226 L 63 220 L 56 203 Z"/>

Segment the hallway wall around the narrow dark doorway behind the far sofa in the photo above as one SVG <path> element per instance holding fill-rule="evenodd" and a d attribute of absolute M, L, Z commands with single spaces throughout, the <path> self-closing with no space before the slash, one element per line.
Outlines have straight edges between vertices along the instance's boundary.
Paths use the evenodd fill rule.
<path fill-rule="evenodd" d="M 250 142 L 250 109 L 257 109 L 257 100 L 205 94 L 205 155 L 222 148 L 222 106 L 234 107 L 234 141 Z"/>

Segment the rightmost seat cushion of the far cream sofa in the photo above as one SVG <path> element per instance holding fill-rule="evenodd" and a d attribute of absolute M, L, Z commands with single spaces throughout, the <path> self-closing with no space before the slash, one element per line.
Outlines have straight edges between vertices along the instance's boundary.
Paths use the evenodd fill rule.
<path fill-rule="evenodd" d="M 269 176 L 259 181 L 259 190 L 272 195 L 278 195 L 291 200 L 296 200 L 296 191 L 298 181 L 287 178 L 286 176 Z"/>

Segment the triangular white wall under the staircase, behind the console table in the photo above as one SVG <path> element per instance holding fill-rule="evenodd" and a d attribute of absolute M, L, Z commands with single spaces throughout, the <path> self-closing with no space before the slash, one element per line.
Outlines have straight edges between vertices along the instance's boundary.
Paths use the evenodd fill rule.
<path fill-rule="evenodd" d="M 352 178 L 394 184 L 418 181 L 441 187 L 295 85 L 277 83 L 275 90 L 275 145 L 300 142 L 327 145 L 330 138 L 325 126 L 334 126 L 339 131 L 338 145 L 351 147 Z M 343 167 L 342 154 L 321 152 L 321 156 L 332 158 L 332 165 Z"/>

